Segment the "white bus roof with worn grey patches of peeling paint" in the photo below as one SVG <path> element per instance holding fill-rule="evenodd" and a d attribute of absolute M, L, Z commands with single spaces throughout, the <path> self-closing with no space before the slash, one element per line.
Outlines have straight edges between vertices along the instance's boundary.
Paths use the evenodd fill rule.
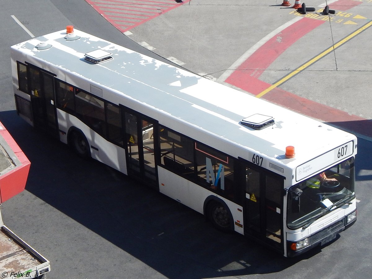
<path fill-rule="evenodd" d="M 22 52 L 26 62 L 57 74 L 57 78 L 91 93 L 97 92 L 92 88 L 98 88 L 101 97 L 110 102 L 121 103 L 195 140 L 250 161 L 253 154 L 262 154 L 294 170 L 356 140 L 352 134 L 250 94 L 93 35 L 78 30 L 74 34 L 80 38 L 67 40 L 65 30 L 54 32 L 14 45 L 12 51 Z M 100 64 L 84 59 L 86 53 L 97 49 L 110 52 L 113 59 Z M 88 57 L 98 58 L 106 52 Z M 241 124 L 242 119 L 256 114 L 273 117 L 275 124 L 262 130 Z M 218 141 L 216 136 L 224 140 Z M 247 154 L 231 148 L 237 145 L 247 148 Z M 284 155 L 289 145 L 295 147 L 292 159 Z"/>

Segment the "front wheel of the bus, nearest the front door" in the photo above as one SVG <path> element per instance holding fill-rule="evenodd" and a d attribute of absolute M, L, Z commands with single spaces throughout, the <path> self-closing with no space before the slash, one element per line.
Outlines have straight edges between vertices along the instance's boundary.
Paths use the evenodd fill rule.
<path fill-rule="evenodd" d="M 219 202 L 212 201 L 208 205 L 208 218 L 217 230 L 232 231 L 231 213 L 228 208 Z"/>

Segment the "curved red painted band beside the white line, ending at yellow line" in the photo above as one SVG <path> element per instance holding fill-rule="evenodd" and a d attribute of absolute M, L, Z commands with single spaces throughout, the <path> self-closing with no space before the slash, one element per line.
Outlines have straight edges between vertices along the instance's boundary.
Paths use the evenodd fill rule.
<path fill-rule="evenodd" d="M 258 80 L 264 70 L 272 64 L 280 54 L 283 53 L 299 38 L 323 24 L 323 20 L 314 20 L 303 17 L 294 24 L 285 28 L 278 35 L 257 49 L 246 61 L 235 70 L 225 82 L 237 86 L 252 94 L 259 94 L 271 84 Z M 278 38 L 280 37 L 280 39 Z"/>

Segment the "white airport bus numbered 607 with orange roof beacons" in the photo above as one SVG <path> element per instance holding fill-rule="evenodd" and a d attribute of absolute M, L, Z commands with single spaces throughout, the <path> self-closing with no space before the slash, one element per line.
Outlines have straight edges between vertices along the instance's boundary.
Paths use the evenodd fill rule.
<path fill-rule="evenodd" d="M 291 257 L 356 220 L 352 134 L 72 26 L 11 56 L 29 124 L 220 230 Z"/>

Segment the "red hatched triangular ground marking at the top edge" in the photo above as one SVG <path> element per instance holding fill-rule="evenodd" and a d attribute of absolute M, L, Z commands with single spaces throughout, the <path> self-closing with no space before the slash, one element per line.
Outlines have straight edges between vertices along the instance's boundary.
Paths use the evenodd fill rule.
<path fill-rule="evenodd" d="M 183 3 L 176 3 L 173 0 L 141 0 L 135 2 L 120 0 L 103 0 L 100 2 L 92 0 L 85 1 L 90 4 L 90 6 L 92 6 L 98 13 L 105 17 L 108 22 L 124 33 L 125 31 L 141 25 L 142 23 L 160 16 L 163 13 L 169 12 L 182 4 L 188 3 L 190 0 L 185 0 Z M 154 12 L 151 12 L 151 10 L 154 10 Z M 121 17 L 115 14 L 129 15 L 131 17 Z M 118 20 L 117 18 L 133 19 L 138 20 L 138 22 Z M 122 24 L 123 22 L 128 24 Z"/>

